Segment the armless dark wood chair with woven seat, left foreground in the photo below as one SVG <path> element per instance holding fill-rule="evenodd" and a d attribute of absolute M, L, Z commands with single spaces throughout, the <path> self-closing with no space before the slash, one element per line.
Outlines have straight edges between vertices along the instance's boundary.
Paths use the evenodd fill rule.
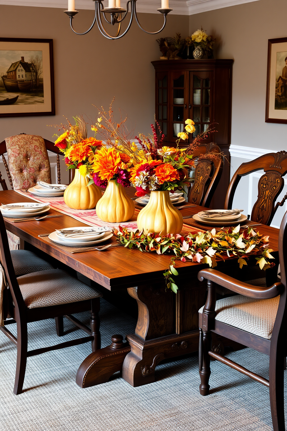
<path fill-rule="evenodd" d="M 88 341 L 92 343 L 93 352 L 101 347 L 99 301 L 102 294 L 82 281 L 71 277 L 62 269 L 47 269 L 16 278 L 2 214 L 0 214 L 0 263 L 2 265 L 0 269 L 4 269 L 9 287 L 3 290 L 4 302 L 7 296 L 9 298 L 6 301 L 8 311 L 5 315 L 4 326 L 0 326 L 0 330 L 17 346 L 14 385 L 14 394 L 17 395 L 22 392 L 28 357 Z M 3 285 L 3 278 L 0 280 L 1 285 Z M 90 311 L 91 329 L 73 316 L 73 313 L 83 311 Z M 51 347 L 28 351 L 27 323 L 51 318 L 57 319 L 63 315 L 87 332 L 88 336 Z M 17 338 L 6 328 L 11 323 L 17 325 Z"/>

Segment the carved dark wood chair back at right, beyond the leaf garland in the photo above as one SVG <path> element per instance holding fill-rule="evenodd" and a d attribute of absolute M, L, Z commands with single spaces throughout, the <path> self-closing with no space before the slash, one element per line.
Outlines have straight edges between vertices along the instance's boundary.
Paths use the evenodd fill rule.
<path fill-rule="evenodd" d="M 251 162 L 242 163 L 237 169 L 229 184 L 225 209 L 231 209 L 236 187 L 245 175 L 259 170 L 264 170 L 264 174 L 258 182 L 258 197 L 253 205 L 251 220 L 260 222 L 263 225 L 270 225 L 278 206 L 282 206 L 287 199 L 287 194 L 281 202 L 275 206 L 275 200 L 284 187 L 284 175 L 287 172 L 287 152 L 264 154 Z"/>

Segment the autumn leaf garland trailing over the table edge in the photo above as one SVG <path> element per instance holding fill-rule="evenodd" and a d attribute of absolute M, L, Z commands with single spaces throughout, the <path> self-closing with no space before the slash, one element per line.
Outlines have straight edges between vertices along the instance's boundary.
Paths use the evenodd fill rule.
<path fill-rule="evenodd" d="M 173 254 L 169 268 L 164 272 L 167 288 L 177 292 L 178 287 L 173 279 L 173 275 L 178 275 L 175 269 L 175 260 L 182 262 L 207 263 L 214 268 L 216 260 L 225 260 L 227 257 L 238 257 L 240 268 L 247 265 L 246 259 L 249 254 L 255 254 L 257 265 L 260 269 L 268 269 L 274 265 L 270 259 L 274 257 L 270 254 L 273 250 L 268 248 L 268 236 L 263 236 L 252 228 L 247 228 L 240 233 L 240 225 L 235 228 L 226 228 L 216 231 L 213 228 L 207 232 L 197 232 L 195 234 L 144 234 L 142 231 L 129 231 L 127 228 L 119 227 L 114 229 L 117 240 L 128 248 L 137 248 L 140 251 L 153 252 L 157 254 Z"/>

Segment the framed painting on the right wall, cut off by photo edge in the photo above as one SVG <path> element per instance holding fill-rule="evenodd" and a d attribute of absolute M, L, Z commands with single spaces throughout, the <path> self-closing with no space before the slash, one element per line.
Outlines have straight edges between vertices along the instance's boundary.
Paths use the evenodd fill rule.
<path fill-rule="evenodd" d="M 265 122 L 287 124 L 287 37 L 268 40 Z"/>

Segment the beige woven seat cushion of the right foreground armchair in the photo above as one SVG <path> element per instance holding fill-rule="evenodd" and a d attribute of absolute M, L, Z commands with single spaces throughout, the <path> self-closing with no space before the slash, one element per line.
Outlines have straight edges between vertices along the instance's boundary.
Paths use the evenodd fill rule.
<path fill-rule="evenodd" d="M 216 301 L 216 317 L 219 322 L 250 332 L 258 337 L 271 339 L 280 295 L 272 299 L 254 299 L 243 295 Z M 202 313 L 204 307 L 199 310 Z"/>

